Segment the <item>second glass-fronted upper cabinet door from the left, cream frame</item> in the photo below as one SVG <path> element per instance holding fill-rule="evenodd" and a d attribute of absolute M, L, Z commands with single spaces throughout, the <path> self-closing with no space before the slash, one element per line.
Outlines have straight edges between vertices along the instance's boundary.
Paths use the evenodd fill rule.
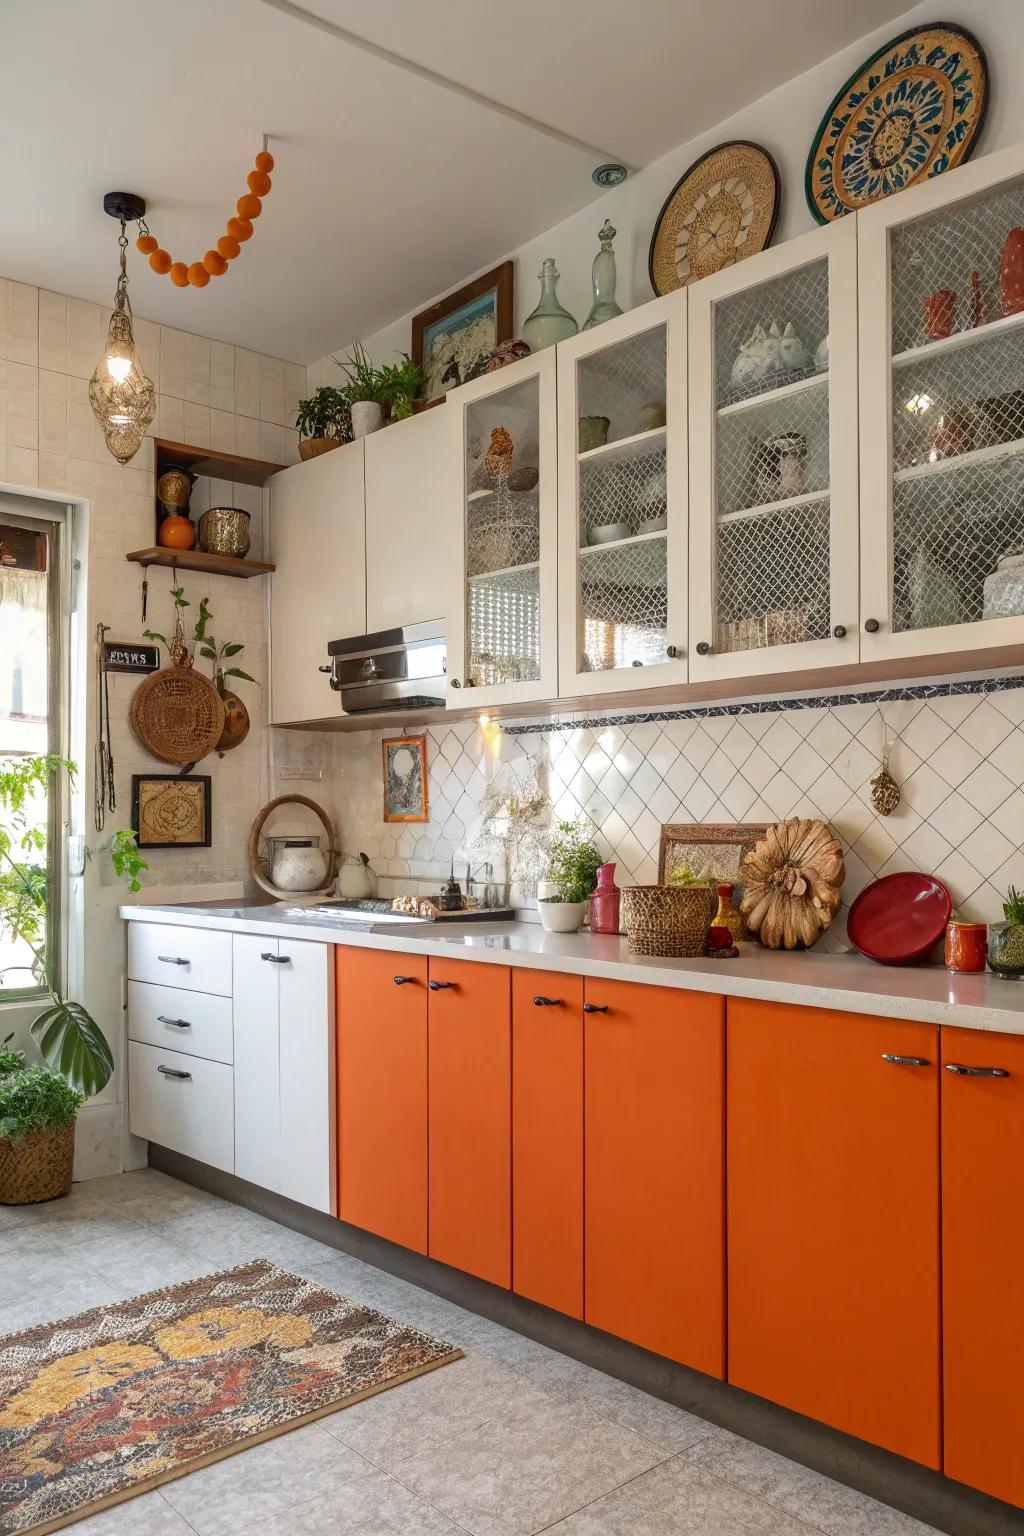
<path fill-rule="evenodd" d="M 686 682 L 686 292 L 557 353 L 560 693 Z"/>

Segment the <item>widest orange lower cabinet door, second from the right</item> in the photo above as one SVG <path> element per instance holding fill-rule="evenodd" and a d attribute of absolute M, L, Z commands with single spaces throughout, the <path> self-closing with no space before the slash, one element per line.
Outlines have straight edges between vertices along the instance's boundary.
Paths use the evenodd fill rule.
<path fill-rule="evenodd" d="M 729 1000 L 729 1381 L 940 1465 L 938 1029 Z"/>

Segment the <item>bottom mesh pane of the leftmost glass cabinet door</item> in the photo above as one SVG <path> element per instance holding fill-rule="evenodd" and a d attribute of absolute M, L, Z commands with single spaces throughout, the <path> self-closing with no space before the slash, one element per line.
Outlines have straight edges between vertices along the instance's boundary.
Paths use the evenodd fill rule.
<path fill-rule="evenodd" d="M 477 688 L 540 677 L 537 565 L 471 578 L 467 604 L 468 677 Z"/>

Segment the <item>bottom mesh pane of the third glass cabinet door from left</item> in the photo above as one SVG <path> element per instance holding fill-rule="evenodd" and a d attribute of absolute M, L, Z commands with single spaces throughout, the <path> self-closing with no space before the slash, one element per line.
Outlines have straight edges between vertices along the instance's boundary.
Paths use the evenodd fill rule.
<path fill-rule="evenodd" d="M 718 524 L 718 651 L 823 641 L 829 633 L 829 499 Z"/>

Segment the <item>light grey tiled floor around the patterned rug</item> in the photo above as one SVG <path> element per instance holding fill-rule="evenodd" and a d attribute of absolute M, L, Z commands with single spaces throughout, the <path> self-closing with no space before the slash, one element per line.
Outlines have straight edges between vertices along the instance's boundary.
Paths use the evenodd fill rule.
<path fill-rule="evenodd" d="M 144 1170 L 0 1206 L 0 1333 L 269 1258 L 465 1359 L 143 1495 L 81 1536 L 929 1536 L 829 1478 Z"/>

